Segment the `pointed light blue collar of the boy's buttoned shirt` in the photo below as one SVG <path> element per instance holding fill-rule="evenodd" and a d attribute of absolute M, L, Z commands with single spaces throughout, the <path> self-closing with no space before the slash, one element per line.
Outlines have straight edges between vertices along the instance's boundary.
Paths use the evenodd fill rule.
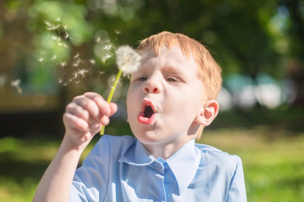
<path fill-rule="evenodd" d="M 198 170 L 201 160 L 200 149 L 195 146 L 195 140 L 190 140 L 182 148 L 176 151 L 165 160 L 173 172 L 178 187 L 179 194 L 182 194 L 190 185 Z M 135 166 L 147 166 L 156 159 L 149 153 L 145 146 L 136 140 L 127 152 L 118 160 Z M 160 161 L 165 163 L 164 161 Z"/>

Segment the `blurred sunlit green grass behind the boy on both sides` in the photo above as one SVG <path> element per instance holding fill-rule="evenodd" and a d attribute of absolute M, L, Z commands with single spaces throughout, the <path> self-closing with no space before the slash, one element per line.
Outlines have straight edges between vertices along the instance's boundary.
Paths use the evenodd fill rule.
<path fill-rule="evenodd" d="M 113 128 L 106 132 L 116 133 Z M 304 201 L 304 132 L 273 125 L 213 128 L 199 142 L 242 158 L 248 202 Z M 59 144 L 52 139 L 0 139 L 0 202 L 32 201 Z"/>

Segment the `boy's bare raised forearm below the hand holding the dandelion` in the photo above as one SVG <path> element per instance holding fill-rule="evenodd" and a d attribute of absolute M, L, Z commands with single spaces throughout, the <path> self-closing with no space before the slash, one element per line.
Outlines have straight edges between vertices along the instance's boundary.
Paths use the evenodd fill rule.
<path fill-rule="evenodd" d="M 33 202 L 68 202 L 73 176 L 83 149 L 73 149 L 65 139 L 66 137 L 45 171 Z"/>

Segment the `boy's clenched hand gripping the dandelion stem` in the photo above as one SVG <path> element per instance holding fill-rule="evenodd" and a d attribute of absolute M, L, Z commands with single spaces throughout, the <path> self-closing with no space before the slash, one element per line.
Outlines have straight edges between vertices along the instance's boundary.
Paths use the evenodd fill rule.
<path fill-rule="evenodd" d="M 75 147 L 87 146 L 93 136 L 101 130 L 101 125 L 109 124 L 118 107 L 107 103 L 98 93 L 84 93 L 76 96 L 66 108 L 63 122 L 66 128 L 65 138 Z"/>

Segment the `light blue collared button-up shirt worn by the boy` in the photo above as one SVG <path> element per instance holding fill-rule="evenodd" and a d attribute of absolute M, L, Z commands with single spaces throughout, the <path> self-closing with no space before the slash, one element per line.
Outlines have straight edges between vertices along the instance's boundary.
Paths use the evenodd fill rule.
<path fill-rule="evenodd" d="M 131 136 L 104 135 L 76 170 L 70 202 L 247 202 L 241 159 L 191 140 L 155 159 Z"/>

